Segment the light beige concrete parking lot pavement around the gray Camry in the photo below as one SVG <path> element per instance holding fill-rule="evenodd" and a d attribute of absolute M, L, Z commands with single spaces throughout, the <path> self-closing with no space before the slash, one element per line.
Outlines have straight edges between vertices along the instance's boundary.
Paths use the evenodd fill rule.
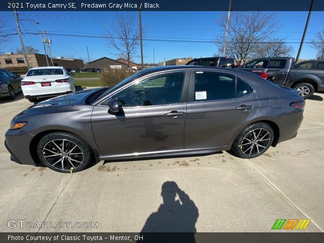
<path fill-rule="evenodd" d="M 270 232 L 276 219 L 310 219 L 300 231 L 324 232 L 323 98 L 316 93 L 306 101 L 296 138 L 254 159 L 223 151 L 100 161 L 73 174 L 10 160 L 3 143 L 10 120 L 32 103 L 21 93 L 14 101 L 1 99 L 0 231 L 140 232 L 144 225 L 171 231 L 177 225 L 180 231 Z M 170 196 L 161 193 L 161 187 L 168 181 L 176 183 L 169 184 L 177 185 L 182 203 L 163 213 L 158 209 Z M 20 228 L 17 223 L 9 228 L 10 220 L 71 225 L 39 229 Z M 75 222 L 94 222 L 98 227 L 76 228 Z"/>

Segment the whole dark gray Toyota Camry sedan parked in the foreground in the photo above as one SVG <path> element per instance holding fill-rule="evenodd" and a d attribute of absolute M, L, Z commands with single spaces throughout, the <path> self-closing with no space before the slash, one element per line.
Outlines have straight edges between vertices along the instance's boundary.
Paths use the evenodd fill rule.
<path fill-rule="evenodd" d="M 20 164 L 58 172 L 92 159 L 232 150 L 254 158 L 296 137 L 305 101 L 245 71 L 204 66 L 142 70 L 108 89 L 52 98 L 16 115 L 5 145 Z"/>

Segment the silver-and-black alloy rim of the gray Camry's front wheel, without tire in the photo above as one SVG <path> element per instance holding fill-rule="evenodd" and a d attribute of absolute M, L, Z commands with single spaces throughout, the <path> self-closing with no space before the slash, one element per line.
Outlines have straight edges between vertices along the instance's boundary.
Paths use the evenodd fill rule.
<path fill-rule="evenodd" d="M 74 170 L 82 165 L 85 158 L 82 149 L 67 139 L 48 142 L 43 148 L 43 156 L 49 165 L 61 170 Z"/>

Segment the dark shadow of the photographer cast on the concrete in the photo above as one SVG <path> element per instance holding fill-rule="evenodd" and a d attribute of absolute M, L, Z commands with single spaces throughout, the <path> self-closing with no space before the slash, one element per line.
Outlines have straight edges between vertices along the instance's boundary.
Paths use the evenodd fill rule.
<path fill-rule="evenodd" d="M 178 198 L 176 196 L 178 195 Z M 162 185 L 161 196 L 163 204 L 157 212 L 152 213 L 141 231 L 145 232 L 186 232 L 187 242 L 194 241 L 195 223 L 198 209 L 174 181 L 167 181 Z"/>

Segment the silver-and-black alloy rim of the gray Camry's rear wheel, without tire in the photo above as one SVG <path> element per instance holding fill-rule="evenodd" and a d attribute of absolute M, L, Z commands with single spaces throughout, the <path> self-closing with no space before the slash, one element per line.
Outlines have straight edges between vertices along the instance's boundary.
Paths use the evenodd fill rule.
<path fill-rule="evenodd" d="M 240 149 L 245 155 L 256 155 L 265 150 L 271 140 L 270 133 L 264 128 L 250 131 L 241 141 Z"/>

